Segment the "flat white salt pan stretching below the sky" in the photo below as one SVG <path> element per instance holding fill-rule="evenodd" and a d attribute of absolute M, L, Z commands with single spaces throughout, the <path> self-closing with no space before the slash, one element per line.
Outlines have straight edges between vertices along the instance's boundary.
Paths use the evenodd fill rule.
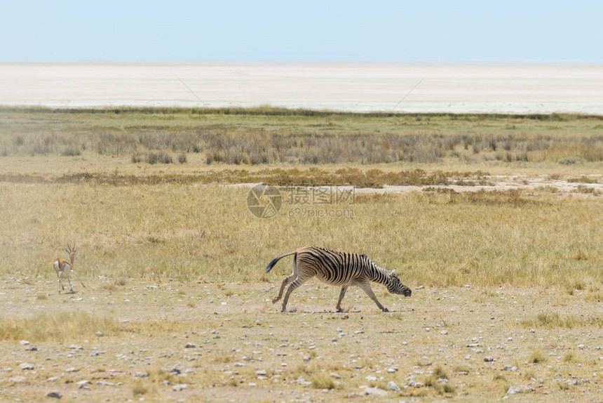
<path fill-rule="evenodd" d="M 0 105 L 603 114 L 602 99 L 601 65 L 0 63 Z"/>

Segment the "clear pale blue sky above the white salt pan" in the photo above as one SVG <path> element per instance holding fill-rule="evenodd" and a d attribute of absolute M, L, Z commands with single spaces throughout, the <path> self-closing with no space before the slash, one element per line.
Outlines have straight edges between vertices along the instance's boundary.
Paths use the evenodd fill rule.
<path fill-rule="evenodd" d="M 0 0 L 0 60 L 603 62 L 603 1 Z"/>

